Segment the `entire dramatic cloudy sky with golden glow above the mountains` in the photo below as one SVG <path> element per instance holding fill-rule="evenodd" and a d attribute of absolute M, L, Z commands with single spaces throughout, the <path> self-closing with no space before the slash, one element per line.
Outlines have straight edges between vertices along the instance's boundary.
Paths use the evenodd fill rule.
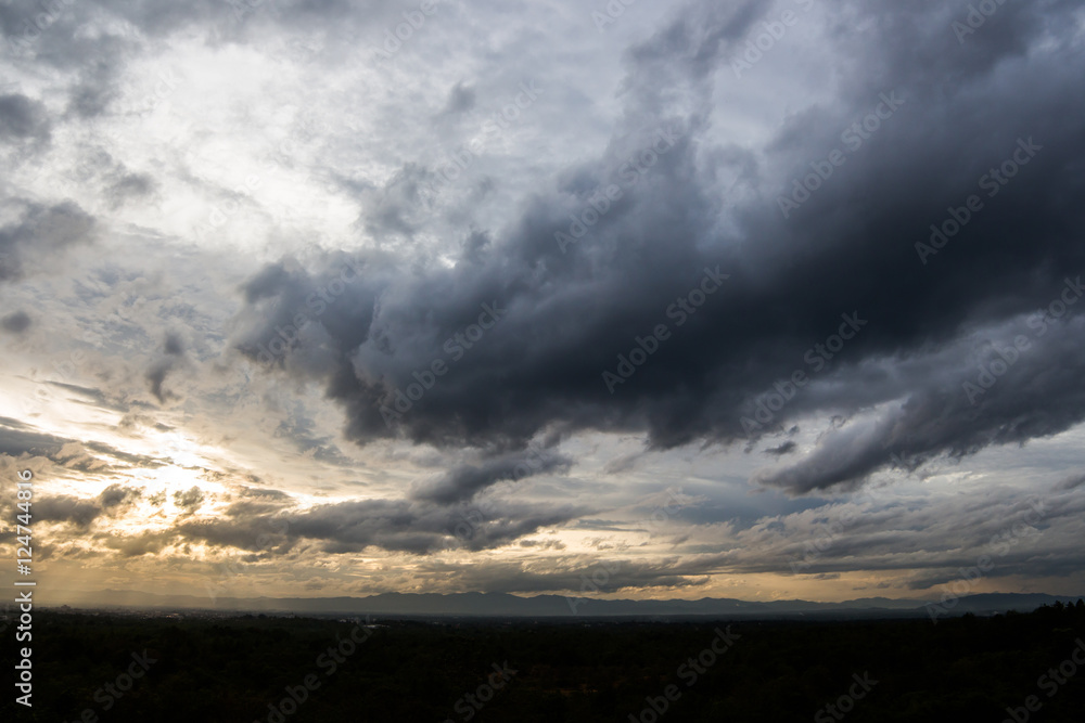
<path fill-rule="evenodd" d="M 42 592 L 1082 593 L 1085 9 L 978 7 L 3 2 Z"/>

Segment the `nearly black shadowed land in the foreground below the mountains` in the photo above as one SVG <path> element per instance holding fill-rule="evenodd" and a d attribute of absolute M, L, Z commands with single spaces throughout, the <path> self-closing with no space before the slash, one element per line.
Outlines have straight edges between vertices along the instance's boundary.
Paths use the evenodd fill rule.
<path fill-rule="evenodd" d="M 1085 720 L 1083 604 L 937 624 L 370 622 L 39 612 L 34 707 L 9 686 L 0 720 Z"/>

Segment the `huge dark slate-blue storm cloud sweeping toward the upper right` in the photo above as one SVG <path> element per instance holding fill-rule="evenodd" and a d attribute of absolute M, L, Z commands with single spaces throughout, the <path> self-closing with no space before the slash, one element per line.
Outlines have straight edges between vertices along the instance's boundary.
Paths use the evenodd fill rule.
<path fill-rule="evenodd" d="M 718 73 L 735 82 L 729 62 L 757 18 L 754 5 L 698 3 L 690 17 L 711 23 L 682 20 L 635 48 L 624 86 L 629 130 L 599 158 L 539 189 L 518 223 L 452 268 L 407 272 L 360 259 L 361 280 L 279 365 L 322 378 L 347 413 L 347 435 L 361 443 L 404 435 L 511 449 L 541 430 L 601 429 L 647 431 L 651 446 L 668 448 L 841 415 L 843 427 L 808 456 L 758 477 L 796 493 L 856 483 L 894 454 L 967 455 L 1081 422 L 1085 345 L 1076 319 L 1085 305 L 1063 309 L 1046 337 L 1029 330 L 1033 352 L 976 404 L 962 384 L 979 369 L 960 344 L 1048 308 L 1068 277 L 1085 272 L 1076 241 L 1085 221 L 1076 202 L 1085 191 L 1076 4 L 1005 5 L 959 43 L 950 22 L 967 15 L 965 2 L 846 3 L 850 27 L 875 22 L 864 33 L 840 28 L 843 52 L 861 62 L 839 66 L 838 102 L 787 118 L 760 157 L 729 146 L 707 153 L 712 83 L 695 81 Z M 678 100 L 663 92 L 675 78 L 690 81 Z M 841 146 L 842 131 L 884 112 L 883 98 L 898 106 L 891 117 L 783 218 L 778 198 Z M 570 214 L 584 218 L 599 203 L 595 189 L 653 144 L 665 149 L 656 163 L 635 172 L 636 184 L 583 237 L 559 247 L 554 234 L 571 233 Z M 1027 165 L 988 196 L 982 177 L 1014 154 Z M 725 227 L 720 179 L 737 177 L 743 188 Z M 917 242 L 973 194 L 982 210 L 924 264 Z M 410 202 L 408 194 L 371 208 L 371 228 L 393 229 Z M 679 326 L 671 305 L 717 268 L 729 281 Z M 239 347 L 256 358 L 255 343 L 273 339 L 335 273 L 278 264 L 254 279 Z M 470 347 L 446 346 L 477 323 L 482 305 L 507 312 Z M 842 315 L 861 320 L 851 327 L 860 331 L 814 369 L 807 351 L 838 334 Z M 612 395 L 603 372 L 616 373 L 618 356 L 659 324 L 669 337 Z M 390 424 L 382 408 L 436 361 L 447 373 Z M 914 373 L 919 367 L 923 374 Z M 755 402 L 796 371 L 813 383 L 768 423 L 744 428 Z M 856 419 L 880 404 L 897 411 Z"/>

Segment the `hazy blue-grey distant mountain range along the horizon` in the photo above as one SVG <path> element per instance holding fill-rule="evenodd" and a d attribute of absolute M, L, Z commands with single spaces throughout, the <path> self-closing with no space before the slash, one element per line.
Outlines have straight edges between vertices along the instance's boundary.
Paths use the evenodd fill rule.
<path fill-rule="evenodd" d="M 1043 593 L 987 593 L 957 601 L 945 615 L 1027 612 L 1076 596 Z M 207 610 L 220 612 L 292 612 L 296 615 L 378 615 L 383 617 L 616 618 L 714 616 L 720 618 L 869 618 L 928 615 L 927 601 L 864 597 L 845 603 L 808 601 L 749 602 L 704 597 L 697 601 L 591 599 L 561 595 L 520 597 L 505 593 L 382 593 L 368 597 L 201 597 L 105 590 L 87 595 L 80 607 Z M 941 617 L 945 617 L 944 615 Z"/>

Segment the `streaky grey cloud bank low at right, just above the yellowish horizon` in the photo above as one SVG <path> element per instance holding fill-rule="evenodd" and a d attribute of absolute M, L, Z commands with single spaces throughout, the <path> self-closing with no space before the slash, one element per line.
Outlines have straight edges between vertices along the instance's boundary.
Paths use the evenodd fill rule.
<path fill-rule="evenodd" d="M 777 524 L 761 520 L 738 531 L 731 548 L 690 564 L 736 574 L 901 572 L 918 590 L 961 577 L 961 568 L 986 555 L 992 578 L 1064 577 L 1081 569 L 1082 555 L 1067 541 L 1081 534 L 1083 511 L 1085 500 L 1058 493 L 1022 500 L 1006 491 L 921 504 L 827 505 Z"/>

